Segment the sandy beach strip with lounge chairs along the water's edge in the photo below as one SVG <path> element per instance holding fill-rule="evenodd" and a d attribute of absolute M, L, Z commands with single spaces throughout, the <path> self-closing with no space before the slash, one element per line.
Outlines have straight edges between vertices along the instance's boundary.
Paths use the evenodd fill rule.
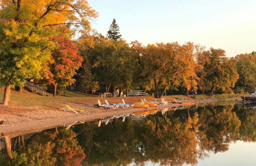
<path fill-rule="evenodd" d="M 177 96 L 175 96 L 177 97 Z M 125 101 L 127 103 L 133 103 L 134 101 L 138 101 L 141 97 L 125 97 Z M 152 100 L 152 97 L 144 97 L 147 101 Z M 84 122 L 94 121 L 98 118 L 104 117 L 112 117 L 115 115 L 135 113 L 143 110 L 153 110 L 153 109 L 161 109 L 161 108 L 172 108 L 172 107 L 188 107 L 196 105 L 196 100 L 192 98 L 187 98 L 183 101 L 182 104 L 173 104 L 170 102 L 170 99 L 174 98 L 174 96 L 165 96 L 166 101 L 168 101 L 167 105 L 157 106 L 157 107 L 149 107 L 148 109 L 141 108 L 118 108 L 118 109 L 103 109 L 103 108 L 95 108 L 93 104 L 97 99 L 102 101 L 102 98 L 88 98 L 81 101 L 65 101 L 58 102 L 59 108 L 52 106 L 52 109 L 42 109 L 36 105 L 32 105 L 30 107 L 1 107 L 6 110 L 0 112 L 0 120 L 4 120 L 4 123 L 0 125 L 0 133 L 4 135 L 16 135 L 19 133 L 29 133 L 32 131 L 42 131 L 49 128 L 54 128 L 58 126 L 63 126 L 65 123 L 74 123 L 75 121 L 82 120 Z M 109 103 L 118 103 L 121 100 L 120 97 L 115 98 L 104 98 L 109 101 Z M 159 100 L 159 99 L 158 99 Z M 226 101 L 237 101 L 237 99 L 226 99 Z M 209 100 L 197 100 L 198 104 L 211 103 L 211 102 L 224 102 L 224 100 L 219 99 L 209 99 Z M 54 101 L 53 101 L 54 102 Z M 51 104 L 51 103 L 48 103 Z M 55 104 L 55 103 L 54 103 Z M 72 108 L 75 109 L 83 109 L 84 113 L 75 114 L 73 112 L 64 112 L 62 105 L 68 104 Z M 21 109 L 21 110 L 19 110 Z M 169 109 L 169 110 L 170 110 Z M 174 109 L 174 108 L 173 108 Z M 2 114 L 1 114 L 2 113 Z M 8 116 L 9 115 L 9 116 Z M 16 134 L 15 134 L 16 133 Z"/>

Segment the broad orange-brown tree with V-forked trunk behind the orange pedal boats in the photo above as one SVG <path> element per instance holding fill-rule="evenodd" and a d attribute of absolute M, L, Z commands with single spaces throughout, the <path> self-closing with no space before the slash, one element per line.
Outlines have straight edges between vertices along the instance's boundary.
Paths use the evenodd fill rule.
<path fill-rule="evenodd" d="M 173 43 L 156 43 L 148 45 L 143 53 L 144 66 L 142 76 L 154 81 L 155 97 L 161 98 L 167 88 L 177 89 L 180 85 L 180 45 Z"/>

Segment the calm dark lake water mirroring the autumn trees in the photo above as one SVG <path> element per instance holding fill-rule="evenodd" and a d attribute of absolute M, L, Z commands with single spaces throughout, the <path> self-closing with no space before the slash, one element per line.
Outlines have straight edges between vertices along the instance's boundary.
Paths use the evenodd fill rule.
<path fill-rule="evenodd" d="M 218 102 L 108 118 L 2 136 L 0 165 L 256 165 L 253 105 Z"/>

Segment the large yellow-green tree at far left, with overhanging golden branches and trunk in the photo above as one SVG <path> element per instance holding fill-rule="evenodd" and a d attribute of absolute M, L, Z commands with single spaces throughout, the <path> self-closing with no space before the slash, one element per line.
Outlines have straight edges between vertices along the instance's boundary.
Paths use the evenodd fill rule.
<path fill-rule="evenodd" d="M 98 13 L 84 0 L 1 1 L 0 82 L 5 87 L 3 104 L 10 100 L 10 87 L 23 86 L 24 79 L 39 78 L 42 62 L 48 60 L 58 35 L 55 26 L 87 27 Z"/>

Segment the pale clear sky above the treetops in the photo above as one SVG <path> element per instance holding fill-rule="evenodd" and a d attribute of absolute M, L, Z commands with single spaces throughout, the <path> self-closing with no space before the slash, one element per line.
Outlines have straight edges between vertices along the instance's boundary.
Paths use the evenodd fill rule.
<path fill-rule="evenodd" d="M 220 48 L 227 57 L 256 51 L 255 0 L 87 0 L 99 17 L 93 29 L 106 35 L 113 19 L 128 43 L 192 41 Z"/>

